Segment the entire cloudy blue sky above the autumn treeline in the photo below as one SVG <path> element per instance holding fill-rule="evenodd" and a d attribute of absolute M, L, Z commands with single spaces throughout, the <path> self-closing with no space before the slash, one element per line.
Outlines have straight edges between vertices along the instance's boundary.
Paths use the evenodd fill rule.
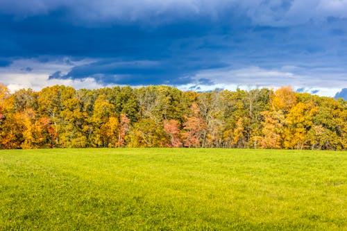
<path fill-rule="evenodd" d="M 347 0 L 1 0 L 0 83 L 347 99 Z"/>

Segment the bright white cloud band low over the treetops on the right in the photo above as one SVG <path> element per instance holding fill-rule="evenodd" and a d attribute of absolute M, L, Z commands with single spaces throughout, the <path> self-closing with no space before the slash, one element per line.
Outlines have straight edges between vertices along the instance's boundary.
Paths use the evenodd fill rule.
<path fill-rule="evenodd" d="M 213 89 L 254 89 L 278 88 L 290 85 L 293 89 L 304 88 L 304 92 L 320 96 L 335 96 L 341 87 L 347 85 L 347 76 L 334 74 L 332 69 L 323 71 L 318 69 L 309 73 L 301 67 L 285 66 L 280 69 L 263 69 L 260 67 L 246 67 L 242 69 L 207 69 L 199 71 L 193 79 L 194 83 L 180 85 L 180 89 L 194 89 L 210 91 Z M 318 74 L 320 73 L 320 74 Z M 211 80 L 214 84 L 202 85 L 199 80 Z"/>

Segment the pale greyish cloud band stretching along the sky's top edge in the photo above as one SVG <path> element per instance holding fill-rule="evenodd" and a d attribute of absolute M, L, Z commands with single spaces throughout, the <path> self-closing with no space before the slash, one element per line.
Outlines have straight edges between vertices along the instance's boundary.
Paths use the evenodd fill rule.
<path fill-rule="evenodd" d="M 173 19 L 208 15 L 231 9 L 248 15 L 254 24 L 286 26 L 325 17 L 347 18 L 347 0 L 2 0 L 0 12 L 17 17 L 46 14 L 66 8 L 78 22 L 144 21 L 162 24 Z M 234 12 L 232 12 L 234 11 Z M 160 19 L 152 20 L 153 18 Z"/>

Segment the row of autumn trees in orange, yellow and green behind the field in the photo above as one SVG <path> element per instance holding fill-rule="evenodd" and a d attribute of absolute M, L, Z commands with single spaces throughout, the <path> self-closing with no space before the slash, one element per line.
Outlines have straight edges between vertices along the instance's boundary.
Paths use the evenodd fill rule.
<path fill-rule="evenodd" d="M 291 87 L 183 92 L 165 85 L 10 93 L 0 148 L 203 147 L 346 150 L 347 101 Z"/>

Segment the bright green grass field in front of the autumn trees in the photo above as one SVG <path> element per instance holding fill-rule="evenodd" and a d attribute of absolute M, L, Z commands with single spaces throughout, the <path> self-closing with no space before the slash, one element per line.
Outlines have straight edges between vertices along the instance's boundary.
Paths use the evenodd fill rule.
<path fill-rule="evenodd" d="M 347 230 L 347 152 L 0 151 L 0 230 Z"/>

